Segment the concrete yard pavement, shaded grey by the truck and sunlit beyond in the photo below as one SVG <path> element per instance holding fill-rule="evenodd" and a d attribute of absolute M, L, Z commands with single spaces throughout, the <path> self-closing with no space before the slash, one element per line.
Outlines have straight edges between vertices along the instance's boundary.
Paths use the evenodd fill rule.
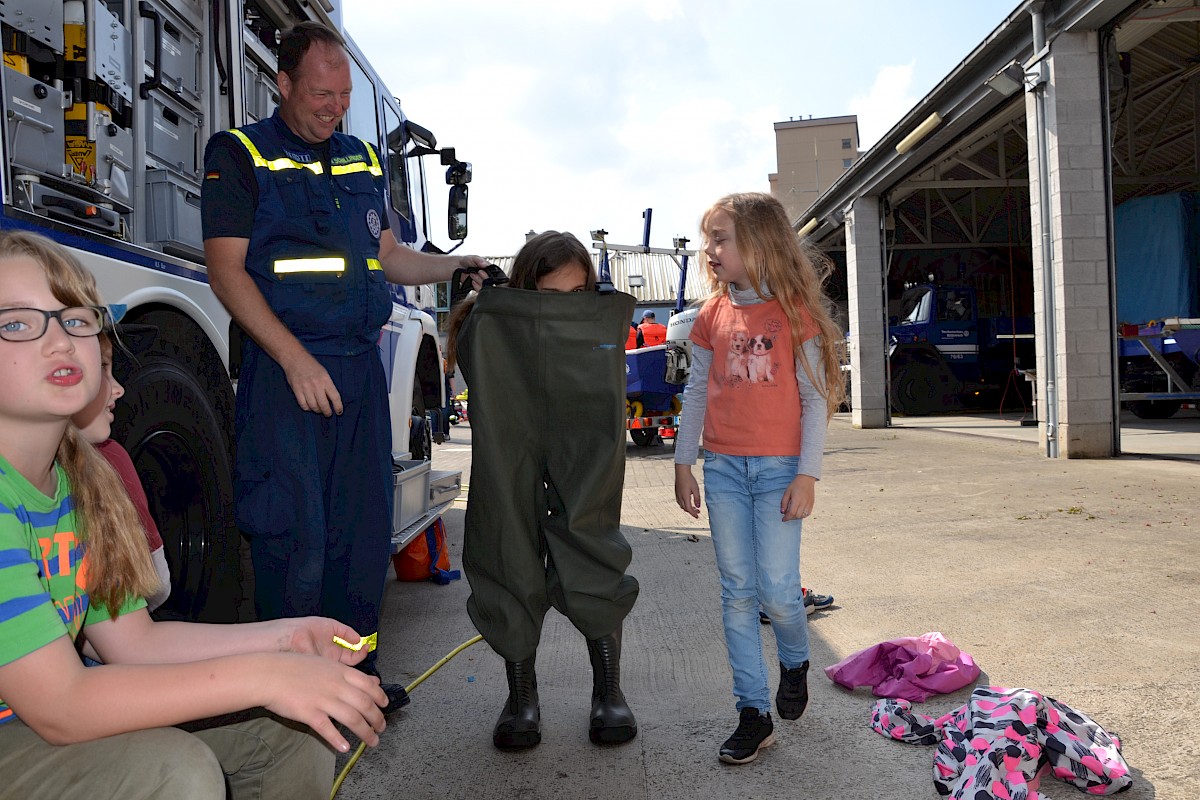
<path fill-rule="evenodd" d="M 469 428 L 458 426 L 434 469 L 463 469 L 469 482 Z M 504 667 L 478 644 L 414 690 L 340 798 L 935 798 L 934 748 L 871 732 L 870 691 L 845 691 L 820 669 L 926 631 L 970 652 L 980 682 L 1042 691 L 1120 734 L 1135 778 L 1123 798 L 1200 796 L 1200 465 L 1049 461 L 1018 439 L 857 431 L 835 419 L 802 553 L 805 585 L 836 597 L 809 618 L 812 700 L 799 721 L 776 718 L 776 745 L 744 766 L 716 759 L 737 715 L 707 521 L 676 507 L 670 446 L 630 444 L 626 465 L 622 522 L 642 593 L 625 626 L 623 685 L 637 739 L 588 741 L 587 650 L 552 610 L 538 661 L 539 747 L 492 747 Z M 463 507 L 446 515 L 456 569 Z M 409 682 L 474 636 L 468 593 L 466 579 L 390 582 L 384 675 Z M 773 663 L 767 627 L 763 639 Z M 940 715 L 968 693 L 916 708 Z M 1082 796 L 1054 778 L 1043 790 Z"/>

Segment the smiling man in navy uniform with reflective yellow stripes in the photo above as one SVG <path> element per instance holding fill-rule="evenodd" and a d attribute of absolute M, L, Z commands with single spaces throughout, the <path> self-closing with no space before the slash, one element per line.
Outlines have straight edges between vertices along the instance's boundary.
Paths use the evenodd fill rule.
<path fill-rule="evenodd" d="M 275 115 L 217 133 L 204 160 L 209 281 L 248 335 L 235 407 L 238 524 L 251 540 L 260 619 L 322 614 L 367 636 L 391 553 L 378 351 L 388 282 L 446 281 L 486 261 L 396 241 L 378 154 L 337 132 L 352 86 L 335 31 L 296 25 L 278 66 Z M 365 663 L 378 675 L 373 657 Z"/>

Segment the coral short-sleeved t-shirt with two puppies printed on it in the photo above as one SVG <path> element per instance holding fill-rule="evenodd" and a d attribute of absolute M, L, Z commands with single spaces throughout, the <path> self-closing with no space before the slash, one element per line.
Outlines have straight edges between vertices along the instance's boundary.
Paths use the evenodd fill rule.
<path fill-rule="evenodd" d="M 804 341 L 817 329 L 804 313 Z M 704 449 L 727 456 L 799 456 L 800 389 L 787 314 L 778 300 L 708 301 L 691 341 L 713 351 Z"/>

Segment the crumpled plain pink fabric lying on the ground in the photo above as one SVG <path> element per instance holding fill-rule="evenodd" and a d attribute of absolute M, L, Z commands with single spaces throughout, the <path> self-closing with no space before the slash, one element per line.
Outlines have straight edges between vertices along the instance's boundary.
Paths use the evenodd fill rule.
<path fill-rule="evenodd" d="M 979 667 L 941 633 L 890 639 L 826 667 L 826 675 L 846 688 L 870 686 L 876 697 L 924 703 L 973 684 Z"/>

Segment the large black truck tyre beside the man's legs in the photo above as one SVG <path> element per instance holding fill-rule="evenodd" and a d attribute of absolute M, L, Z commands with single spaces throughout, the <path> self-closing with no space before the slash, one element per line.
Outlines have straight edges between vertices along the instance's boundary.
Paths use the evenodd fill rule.
<path fill-rule="evenodd" d="M 113 438 L 146 491 L 170 565 L 170 597 L 157 615 L 238 621 L 240 535 L 233 513 L 233 459 L 220 415 L 182 359 L 156 345 L 122 375 Z"/>

